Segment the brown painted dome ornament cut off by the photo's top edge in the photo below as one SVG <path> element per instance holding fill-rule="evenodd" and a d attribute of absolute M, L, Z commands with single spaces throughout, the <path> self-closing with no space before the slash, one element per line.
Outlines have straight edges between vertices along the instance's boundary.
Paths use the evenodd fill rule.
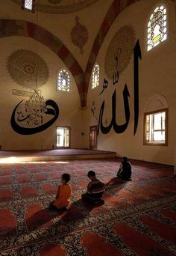
<path fill-rule="evenodd" d="M 10 0 L 22 5 L 22 0 Z M 42 13 L 75 13 L 95 4 L 98 0 L 40 0 L 35 3 L 35 10 Z"/>

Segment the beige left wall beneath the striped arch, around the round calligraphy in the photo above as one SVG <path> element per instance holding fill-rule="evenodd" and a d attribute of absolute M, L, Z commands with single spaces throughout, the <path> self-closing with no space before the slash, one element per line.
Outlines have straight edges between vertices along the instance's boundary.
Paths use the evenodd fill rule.
<path fill-rule="evenodd" d="M 49 79 L 41 87 L 45 100 L 54 100 L 60 109 L 60 115 L 57 121 L 45 129 L 43 132 L 34 135 L 20 135 L 13 131 L 10 126 L 10 118 L 15 106 L 27 97 L 16 96 L 12 94 L 13 89 L 29 91 L 20 85 L 17 85 L 10 78 L 6 69 L 6 60 L 8 55 L 16 49 L 29 49 L 36 52 L 43 58 L 48 65 Z M 27 37 L 7 37 L 0 40 L 0 62 L 1 62 L 1 83 L 0 83 L 0 144 L 2 150 L 24 150 L 24 149 L 51 149 L 56 144 L 56 127 L 71 127 L 71 147 L 82 147 L 82 109 L 80 107 L 80 98 L 75 80 L 71 75 L 71 92 L 66 94 L 57 91 L 57 72 L 60 68 L 66 68 L 62 61 L 51 52 L 50 49 L 37 43 Z"/>

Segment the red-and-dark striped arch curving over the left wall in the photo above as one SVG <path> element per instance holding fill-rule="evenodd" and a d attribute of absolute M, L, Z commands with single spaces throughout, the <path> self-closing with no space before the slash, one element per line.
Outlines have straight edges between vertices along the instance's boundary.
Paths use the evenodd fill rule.
<path fill-rule="evenodd" d="M 85 106 L 84 71 L 58 37 L 32 22 L 20 19 L 0 19 L 0 38 L 12 36 L 31 37 L 51 49 L 63 61 L 70 73 L 72 73 L 78 87 L 81 106 Z"/>

